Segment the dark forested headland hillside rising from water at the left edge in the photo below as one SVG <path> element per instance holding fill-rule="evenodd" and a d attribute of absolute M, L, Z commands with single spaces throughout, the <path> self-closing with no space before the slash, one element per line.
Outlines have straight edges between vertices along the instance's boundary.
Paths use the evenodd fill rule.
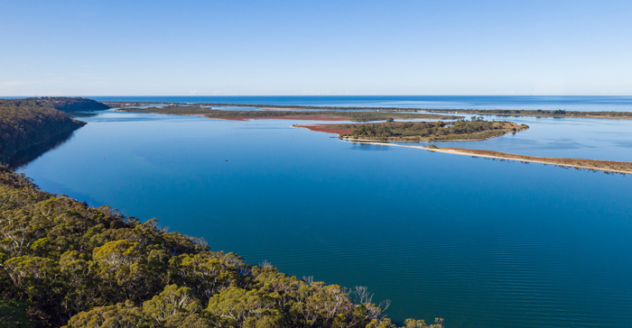
<path fill-rule="evenodd" d="M 0 162 L 85 124 L 53 108 L 54 99 L 60 98 L 0 99 Z M 70 103 L 56 104 L 67 108 Z"/>

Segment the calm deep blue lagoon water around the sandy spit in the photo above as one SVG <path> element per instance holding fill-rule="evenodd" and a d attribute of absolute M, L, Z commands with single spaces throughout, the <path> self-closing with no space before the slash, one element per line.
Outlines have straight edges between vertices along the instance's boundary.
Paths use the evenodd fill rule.
<path fill-rule="evenodd" d="M 632 321 L 630 175 L 358 145 L 287 120 L 82 119 L 70 141 L 21 171 L 45 190 L 155 216 L 252 264 L 367 286 L 374 300 L 392 300 L 400 323 Z M 632 121 L 515 121 L 531 129 L 441 144 L 632 160 Z"/>

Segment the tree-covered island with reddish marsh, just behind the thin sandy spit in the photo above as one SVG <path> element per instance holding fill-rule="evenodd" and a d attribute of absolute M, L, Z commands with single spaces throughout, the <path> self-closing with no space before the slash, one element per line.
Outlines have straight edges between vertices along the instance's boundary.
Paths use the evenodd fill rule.
<path fill-rule="evenodd" d="M 528 129 L 507 121 L 393 122 L 297 125 L 313 131 L 339 133 L 340 138 L 366 141 L 475 141 Z"/>

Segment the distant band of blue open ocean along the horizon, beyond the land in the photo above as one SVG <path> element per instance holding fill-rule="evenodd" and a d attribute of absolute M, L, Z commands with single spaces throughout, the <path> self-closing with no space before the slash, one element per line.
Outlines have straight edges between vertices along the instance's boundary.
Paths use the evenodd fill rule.
<path fill-rule="evenodd" d="M 632 112 L 632 96 L 93 96 L 99 101 Z"/>

